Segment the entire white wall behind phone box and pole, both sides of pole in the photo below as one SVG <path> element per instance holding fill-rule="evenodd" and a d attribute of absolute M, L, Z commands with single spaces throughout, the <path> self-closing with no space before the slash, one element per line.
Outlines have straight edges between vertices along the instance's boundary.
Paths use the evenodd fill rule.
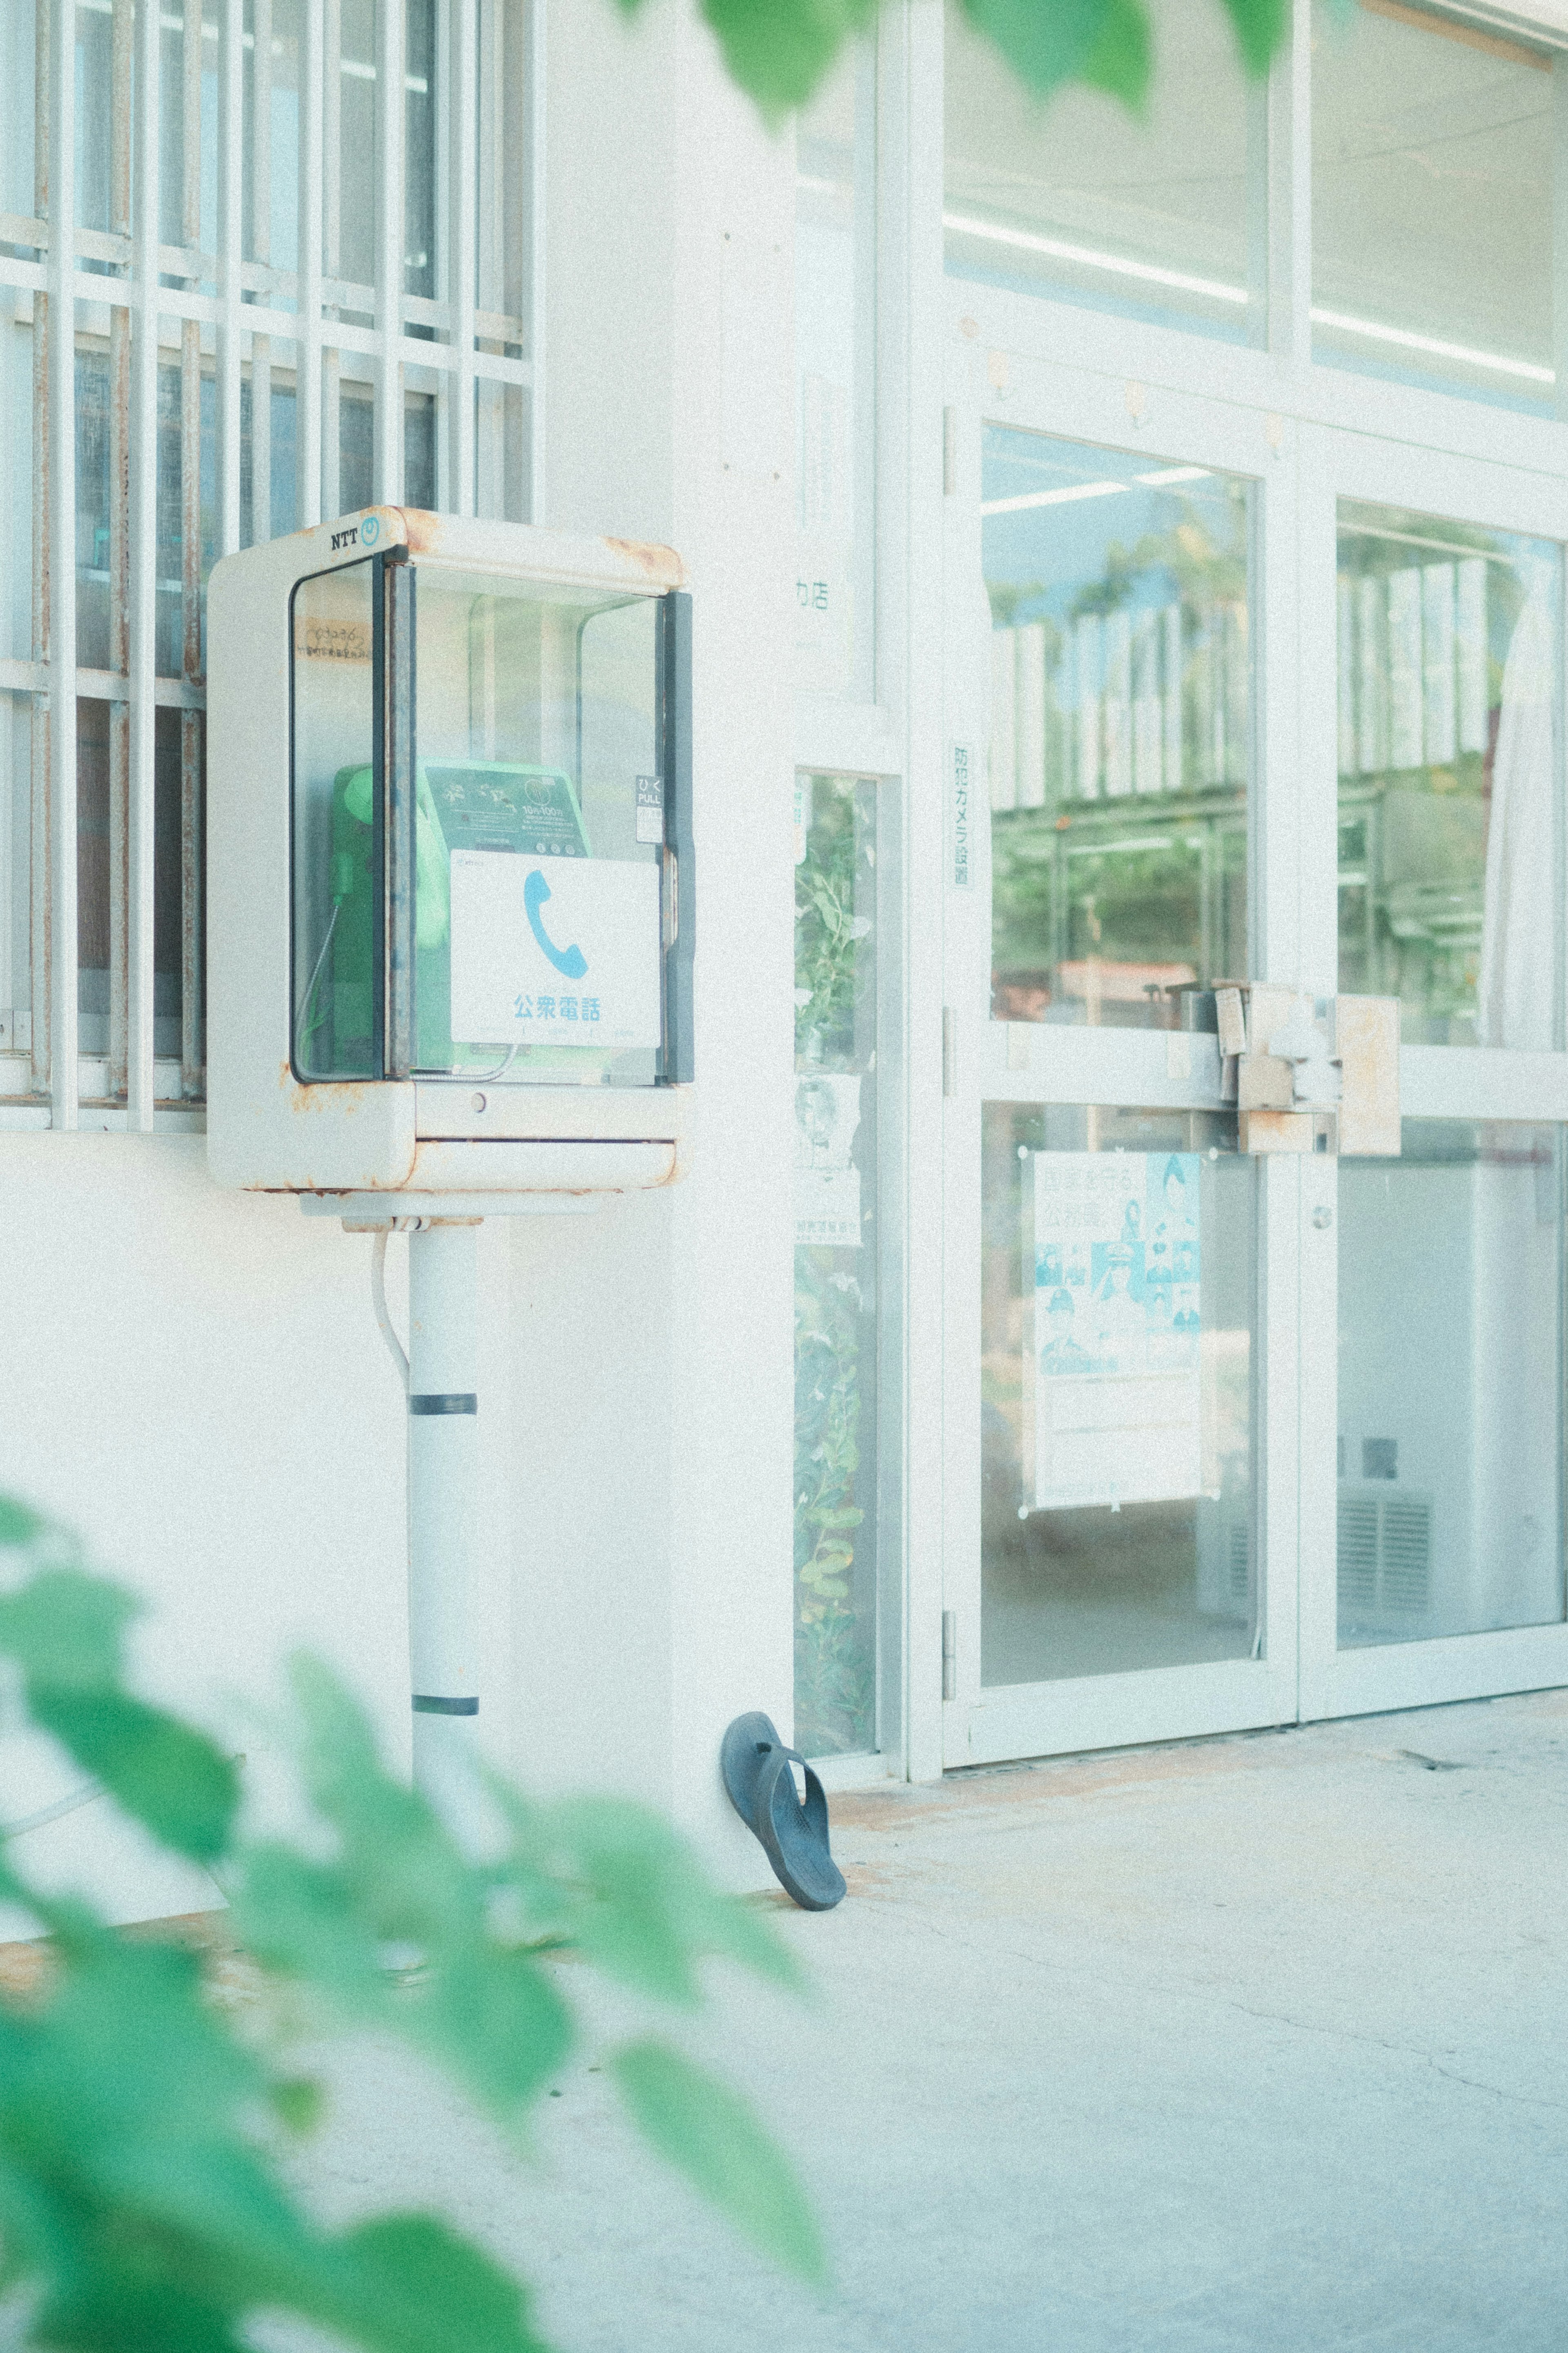
<path fill-rule="evenodd" d="M 482 1729 L 534 1786 L 628 1788 L 762 1885 L 717 1746 L 752 1706 L 788 1732 L 792 1680 L 792 146 L 670 0 L 632 31 L 557 0 L 545 73 L 541 520 L 675 544 L 696 600 L 698 1104 L 686 1184 L 482 1231 Z M 0 1134 L 0 1487 L 134 1581 L 148 1685 L 263 1788 L 299 1642 L 407 1755 L 369 1240 L 221 1193 L 188 1136 Z M 0 1744 L 0 1819 L 71 1786 Z M 103 1807 L 19 1857 L 120 1918 L 216 1901 Z"/>

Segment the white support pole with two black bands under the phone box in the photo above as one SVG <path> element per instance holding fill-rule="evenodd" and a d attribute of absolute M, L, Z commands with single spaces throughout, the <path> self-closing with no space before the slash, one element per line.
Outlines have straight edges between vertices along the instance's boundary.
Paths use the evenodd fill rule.
<path fill-rule="evenodd" d="M 473 1529 L 480 1478 L 477 1221 L 409 1233 L 409 1666 L 414 1786 L 463 1805 L 480 1715 Z"/>

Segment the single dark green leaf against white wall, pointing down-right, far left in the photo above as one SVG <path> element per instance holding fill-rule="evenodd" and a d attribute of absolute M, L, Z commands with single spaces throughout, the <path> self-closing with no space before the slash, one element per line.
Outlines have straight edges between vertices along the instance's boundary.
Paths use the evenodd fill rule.
<path fill-rule="evenodd" d="M 216 1864 L 240 1802 L 240 1777 L 212 1741 L 129 1692 L 85 1692 L 28 1678 L 28 1713 L 165 1847 Z"/>

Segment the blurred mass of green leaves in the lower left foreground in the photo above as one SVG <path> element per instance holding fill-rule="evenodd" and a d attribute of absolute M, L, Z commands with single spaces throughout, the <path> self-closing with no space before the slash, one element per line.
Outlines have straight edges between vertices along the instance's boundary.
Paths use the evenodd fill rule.
<path fill-rule="evenodd" d="M 0 1499 L 0 1661 L 21 1708 L 162 1847 L 221 1873 L 242 1946 L 294 1986 L 277 2007 L 296 2028 L 400 2038 L 527 2146 L 534 2101 L 581 2040 L 559 1948 L 686 2009 L 705 1955 L 795 1984 L 766 1922 L 639 1807 L 531 1805 L 491 1781 L 496 1838 L 465 1852 L 313 1659 L 292 1680 L 315 1835 L 247 1840 L 235 1762 L 125 1687 L 136 1609 Z M 195 1953 L 47 1892 L 14 1833 L 0 1833 L 0 1899 L 52 1941 L 42 1991 L 0 1995 L 0 2292 L 21 2292 L 28 2344 L 242 2353 L 247 2318 L 284 2311 L 369 2353 L 541 2346 L 524 2285 L 444 2221 L 310 2217 L 280 2160 L 327 2094 L 282 2024 L 237 2033 Z M 811 2207 L 733 2089 L 646 2035 L 602 2066 L 661 2158 L 766 2257 L 823 2280 Z"/>

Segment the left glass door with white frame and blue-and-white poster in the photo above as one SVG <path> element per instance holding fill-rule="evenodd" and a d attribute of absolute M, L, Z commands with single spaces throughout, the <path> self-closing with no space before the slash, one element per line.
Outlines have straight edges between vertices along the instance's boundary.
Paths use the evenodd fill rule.
<path fill-rule="evenodd" d="M 1262 419 L 978 374 L 947 501 L 950 1765 L 1295 1715 L 1302 1172 L 1239 1153 L 1211 995 L 1298 953 L 1258 692 L 1286 492 Z"/>

